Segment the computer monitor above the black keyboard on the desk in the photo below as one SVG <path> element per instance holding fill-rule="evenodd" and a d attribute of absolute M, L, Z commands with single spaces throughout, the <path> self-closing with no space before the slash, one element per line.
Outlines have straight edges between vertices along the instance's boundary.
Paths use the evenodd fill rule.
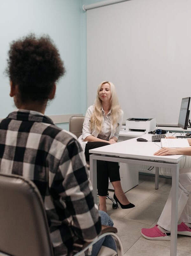
<path fill-rule="evenodd" d="M 182 98 L 178 126 L 184 130 L 186 130 L 188 127 L 188 119 L 189 119 L 189 112 L 190 112 L 189 105 L 190 105 L 190 97 Z"/>

